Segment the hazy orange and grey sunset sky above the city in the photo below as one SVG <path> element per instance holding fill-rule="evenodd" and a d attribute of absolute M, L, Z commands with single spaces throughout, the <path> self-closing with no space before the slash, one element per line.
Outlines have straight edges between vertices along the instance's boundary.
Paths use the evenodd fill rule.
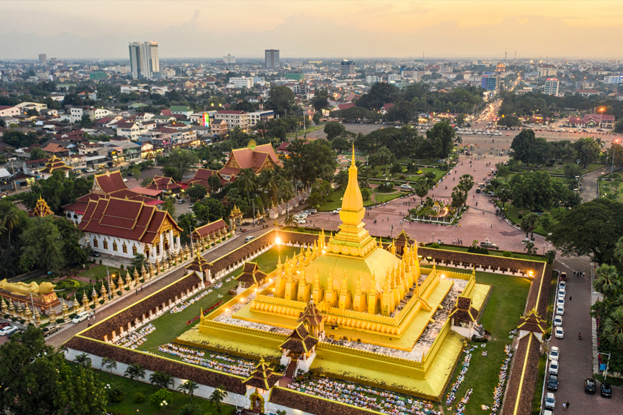
<path fill-rule="evenodd" d="M 623 55 L 623 1 L 0 1 L 0 59 Z"/>

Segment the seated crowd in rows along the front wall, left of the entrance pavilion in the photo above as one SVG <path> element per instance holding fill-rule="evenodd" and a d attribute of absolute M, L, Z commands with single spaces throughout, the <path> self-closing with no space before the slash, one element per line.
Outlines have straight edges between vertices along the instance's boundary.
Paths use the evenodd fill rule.
<path fill-rule="evenodd" d="M 215 369 L 227 374 L 249 376 L 255 369 L 253 362 L 231 358 L 220 353 L 210 353 L 208 357 L 205 351 L 190 349 L 190 347 L 183 347 L 179 344 L 165 344 L 159 347 L 158 350 L 162 353 L 177 356 L 183 362 L 208 367 L 209 369 Z"/>

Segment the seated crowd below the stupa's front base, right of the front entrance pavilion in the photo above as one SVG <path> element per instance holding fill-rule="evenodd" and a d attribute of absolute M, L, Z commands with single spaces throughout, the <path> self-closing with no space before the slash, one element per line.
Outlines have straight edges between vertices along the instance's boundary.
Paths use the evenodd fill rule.
<path fill-rule="evenodd" d="M 321 378 L 304 383 L 292 382 L 288 387 L 309 395 L 322 396 L 348 405 L 373 409 L 383 414 L 441 415 L 440 411 L 433 409 L 431 403 L 350 382 Z"/>

